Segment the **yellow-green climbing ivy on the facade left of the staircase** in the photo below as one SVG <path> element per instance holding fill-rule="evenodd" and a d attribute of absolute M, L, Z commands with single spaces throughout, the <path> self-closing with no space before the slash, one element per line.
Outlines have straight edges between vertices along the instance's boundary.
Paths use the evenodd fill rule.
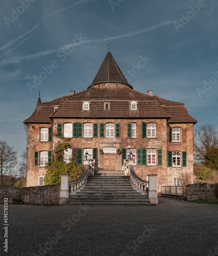
<path fill-rule="evenodd" d="M 61 174 L 69 174 L 69 180 L 74 181 L 83 172 L 84 166 L 77 165 L 77 157 L 74 150 L 72 150 L 72 159 L 69 163 L 65 163 L 63 160 L 63 151 L 70 148 L 70 144 L 63 142 L 55 147 L 52 153 L 52 162 L 47 163 L 46 174 L 44 177 L 45 185 L 54 185 L 61 183 Z"/>

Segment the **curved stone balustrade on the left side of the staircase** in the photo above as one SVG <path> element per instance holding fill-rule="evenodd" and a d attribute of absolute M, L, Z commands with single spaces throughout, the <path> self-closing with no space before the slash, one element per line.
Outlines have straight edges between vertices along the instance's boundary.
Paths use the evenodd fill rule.
<path fill-rule="evenodd" d="M 83 173 L 76 180 L 69 182 L 69 185 L 71 186 L 70 195 L 75 195 L 77 192 L 82 190 L 87 183 L 88 176 L 94 175 L 94 170 L 96 168 L 96 165 L 93 162 L 91 162 L 91 165 L 89 163 L 90 163 L 89 160 L 84 160 Z"/>

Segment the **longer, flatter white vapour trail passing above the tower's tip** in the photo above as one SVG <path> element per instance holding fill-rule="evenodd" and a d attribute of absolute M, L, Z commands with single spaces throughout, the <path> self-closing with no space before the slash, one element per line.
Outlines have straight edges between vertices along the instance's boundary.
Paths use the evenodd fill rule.
<path fill-rule="evenodd" d="M 151 26 L 149 28 L 143 28 L 143 29 L 139 29 L 139 30 L 136 30 L 136 31 L 131 31 L 131 32 L 128 32 L 126 34 L 122 34 L 122 35 L 118 35 L 118 36 L 110 36 L 110 37 L 105 37 L 105 38 L 102 38 L 102 39 L 83 40 L 81 42 L 81 44 L 91 44 L 91 43 L 94 43 L 94 42 L 103 42 L 103 41 L 109 41 L 109 40 L 116 40 L 116 39 L 120 39 L 120 38 L 132 37 L 132 36 L 135 36 L 135 35 L 138 35 L 138 34 L 142 34 L 142 33 L 146 33 L 146 32 L 158 29 L 162 26 L 167 26 L 167 25 L 172 24 L 172 23 L 173 22 L 171 20 L 169 20 L 169 21 L 165 21 L 165 22 L 159 23 L 157 25 Z M 10 64 L 10 63 L 19 63 L 21 60 L 31 60 L 31 59 L 39 58 L 39 57 L 42 57 L 42 56 L 46 56 L 46 55 L 49 55 L 49 54 L 52 54 L 52 53 L 56 53 L 57 51 L 66 49 L 70 45 L 71 44 L 67 44 L 67 45 L 65 45 L 61 48 L 54 49 L 54 50 L 53 49 L 45 50 L 45 51 L 41 51 L 41 52 L 38 52 L 38 53 L 29 54 L 29 55 L 26 55 L 26 56 L 19 56 L 19 57 L 15 57 L 15 58 L 11 58 L 11 59 L 5 59 L 5 60 L 0 61 L 0 66 L 4 66 L 4 65 L 7 65 L 7 64 Z"/>

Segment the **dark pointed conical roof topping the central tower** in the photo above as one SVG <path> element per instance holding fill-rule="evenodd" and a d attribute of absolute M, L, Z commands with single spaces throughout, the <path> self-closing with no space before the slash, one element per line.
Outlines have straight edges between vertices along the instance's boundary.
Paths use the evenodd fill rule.
<path fill-rule="evenodd" d="M 94 80 L 88 88 L 94 86 L 95 84 L 105 82 L 124 83 L 131 89 L 133 89 L 132 86 L 128 83 L 120 68 L 118 67 L 110 51 L 108 51 L 98 73 L 96 74 Z"/>

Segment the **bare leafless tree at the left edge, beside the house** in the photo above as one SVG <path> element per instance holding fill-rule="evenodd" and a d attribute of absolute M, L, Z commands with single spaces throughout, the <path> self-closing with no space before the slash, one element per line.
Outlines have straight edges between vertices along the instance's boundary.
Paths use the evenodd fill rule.
<path fill-rule="evenodd" d="M 11 175 L 17 164 L 17 151 L 4 140 L 0 141 L 0 171 L 3 184 L 3 175 Z"/>

